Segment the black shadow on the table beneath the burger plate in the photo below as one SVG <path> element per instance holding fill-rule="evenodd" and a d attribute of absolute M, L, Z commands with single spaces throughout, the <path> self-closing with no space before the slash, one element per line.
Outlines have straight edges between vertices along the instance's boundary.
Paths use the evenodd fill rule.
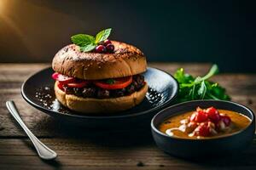
<path fill-rule="evenodd" d="M 138 146 L 145 144 L 154 144 L 151 136 L 150 125 L 133 126 L 122 128 L 108 127 L 81 127 L 59 122 L 51 117 L 44 122 L 38 122 L 39 127 L 35 128 L 38 132 L 44 131 L 41 135 L 45 138 L 63 138 L 63 139 L 82 139 L 93 144 L 102 144 L 109 146 Z"/>

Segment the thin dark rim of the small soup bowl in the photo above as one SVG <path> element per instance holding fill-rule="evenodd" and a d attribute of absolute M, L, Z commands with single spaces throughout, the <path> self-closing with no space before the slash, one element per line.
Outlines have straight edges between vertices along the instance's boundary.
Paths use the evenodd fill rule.
<path fill-rule="evenodd" d="M 247 110 L 250 112 L 250 114 L 253 115 L 252 119 L 251 119 L 251 122 L 247 125 L 247 127 L 251 126 L 251 124 L 253 123 L 253 120 L 255 120 L 255 115 L 253 114 L 253 111 L 250 110 L 249 108 L 247 108 L 247 106 L 245 105 L 241 105 L 241 104 L 238 104 L 236 102 L 233 102 L 233 101 L 226 101 L 226 100 L 214 100 L 214 99 L 198 99 L 198 100 L 193 100 L 193 101 L 186 101 L 186 102 L 183 102 L 183 103 L 179 103 L 177 105 L 172 105 L 172 106 L 169 106 L 169 107 L 166 107 L 165 109 L 163 109 L 162 111 L 159 111 L 151 120 L 151 128 L 154 130 L 154 132 L 156 133 L 159 133 L 160 135 L 163 135 L 163 136 L 166 136 L 167 138 L 170 138 L 170 139 L 177 139 L 177 140 L 190 140 L 190 141 L 195 141 L 195 140 L 214 140 L 214 139 L 224 139 L 224 138 L 228 138 L 230 136 L 233 136 L 233 135 L 236 135 L 238 133 L 241 133 L 243 131 L 245 131 L 247 129 L 247 127 L 237 131 L 236 133 L 229 133 L 229 134 L 226 134 L 226 135 L 222 135 L 222 136 L 218 136 L 218 137 L 211 137 L 211 138 L 205 138 L 205 139 L 183 139 L 183 138 L 179 138 L 179 137 L 172 137 L 172 136 L 168 136 L 166 133 L 162 133 L 160 132 L 160 130 L 158 130 L 157 127 L 154 126 L 154 119 L 156 116 L 160 115 L 162 112 L 166 111 L 166 110 L 169 110 L 169 109 L 172 109 L 173 107 L 180 107 L 181 105 L 184 105 L 184 104 L 188 104 L 188 103 L 194 103 L 194 102 L 204 102 L 204 101 L 211 101 L 211 102 L 223 102 L 223 103 L 230 103 L 232 105 L 237 105 L 239 107 L 242 107 L 243 109 Z M 172 115 L 170 115 L 172 116 Z M 174 115 L 173 115 L 174 116 Z M 255 133 L 254 133 L 255 134 Z"/>

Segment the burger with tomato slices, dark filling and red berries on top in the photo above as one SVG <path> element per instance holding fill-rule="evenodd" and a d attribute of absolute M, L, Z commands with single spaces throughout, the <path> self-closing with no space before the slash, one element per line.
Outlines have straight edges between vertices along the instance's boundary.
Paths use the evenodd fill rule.
<path fill-rule="evenodd" d="M 95 48 L 89 51 L 74 39 L 52 61 L 55 96 L 61 105 L 82 113 L 109 113 L 143 101 L 148 84 L 142 75 L 147 61 L 141 50 L 105 38 L 92 43 Z"/>

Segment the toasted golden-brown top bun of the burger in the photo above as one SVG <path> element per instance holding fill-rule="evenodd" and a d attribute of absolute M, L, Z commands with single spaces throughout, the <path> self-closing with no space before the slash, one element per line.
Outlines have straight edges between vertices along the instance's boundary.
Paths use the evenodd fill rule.
<path fill-rule="evenodd" d="M 113 54 L 85 53 L 75 44 L 67 45 L 55 54 L 52 68 L 68 77 L 85 80 L 128 77 L 146 71 L 147 61 L 141 50 L 125 42 L 111 42 Z"/>

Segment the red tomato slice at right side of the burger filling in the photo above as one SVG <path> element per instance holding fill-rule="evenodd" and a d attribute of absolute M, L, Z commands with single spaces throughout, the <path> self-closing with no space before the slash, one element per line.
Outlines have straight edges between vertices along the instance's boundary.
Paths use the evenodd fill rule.
<path fill-rule="evenodd" d="M 113 83 L 108 83 L 106 81 L 95 81 L 95 85 L 99 88 L 104 88 L 108 90 L 126 88 L 132 82 L 132 77 L 121 77 L 113 79 Z"/>

